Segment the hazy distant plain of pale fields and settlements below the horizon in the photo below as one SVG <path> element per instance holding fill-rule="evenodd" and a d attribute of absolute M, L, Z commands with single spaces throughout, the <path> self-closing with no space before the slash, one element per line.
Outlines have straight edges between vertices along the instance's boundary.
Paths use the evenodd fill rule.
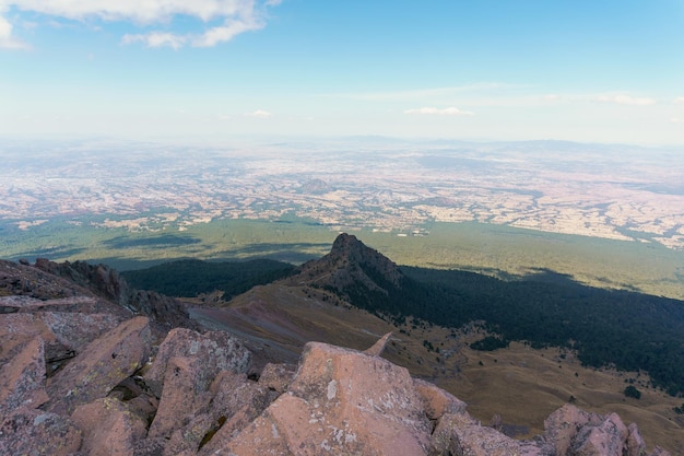
<path fill-rule="evenodd" d="M 10 141 L 0 152 L 0 221 L 25 231 L 84 215 L 130 231 L 290 217 L 424 236 L 431 221 L 477 221 L 684 249 L 684 159 L 667 149 L 362 138 L 231 148 Z"/>

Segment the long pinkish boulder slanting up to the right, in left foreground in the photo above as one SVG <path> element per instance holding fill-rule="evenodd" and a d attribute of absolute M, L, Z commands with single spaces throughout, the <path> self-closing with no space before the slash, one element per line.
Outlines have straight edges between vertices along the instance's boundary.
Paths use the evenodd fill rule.
<path fill-rule="evenodd" d="M 150 356 L 152 330 L 146 317 L 123 321 L 89 343 L 48 384 L 47 409 L 71 414 L 80 405 L 106 397 Z"/>

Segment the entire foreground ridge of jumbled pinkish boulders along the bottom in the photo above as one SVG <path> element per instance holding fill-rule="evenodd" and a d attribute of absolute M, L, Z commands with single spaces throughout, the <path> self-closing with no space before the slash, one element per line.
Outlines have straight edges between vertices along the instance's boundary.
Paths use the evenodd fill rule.
<path fill-rule="evenodd" d="M 256 371 L 239 340 L 202 332 L 173 302 L 160 301 L 188 327 L 169 329 L 135 293 L 50 297 L 64 290 L 50 268 L 1 266 L 0 455 L 647 454 L 635 424 L 571 405 L 512 440 L 380 358 L 387 337 L 365 352 L 309 342 L 298 365 Z"/>

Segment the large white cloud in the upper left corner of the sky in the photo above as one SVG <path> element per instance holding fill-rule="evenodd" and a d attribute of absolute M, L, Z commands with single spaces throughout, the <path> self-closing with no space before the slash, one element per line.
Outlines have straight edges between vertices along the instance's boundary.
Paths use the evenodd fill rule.
<path fill-rule="evenodd" d="M 263 28 L 267 9 L 279 3 L 280 0 L 0 0 L 0 14 L 13 8 L 17 12 L 83 22 L 99 20 L 161 25 L 163 30 L 160 31 L 125 35 L 121 43 L 177 49 L 188 44 L 215 46 L 238 34 Z M 177 15 L 198 19 L 204 26 L 196 33 L 175 33 L 168 28 Z M 209 25 L 210 22 L 213 24 Z M 12 37 L 12 25 L 1 15 L 0 47 L 25 47 Z"/>

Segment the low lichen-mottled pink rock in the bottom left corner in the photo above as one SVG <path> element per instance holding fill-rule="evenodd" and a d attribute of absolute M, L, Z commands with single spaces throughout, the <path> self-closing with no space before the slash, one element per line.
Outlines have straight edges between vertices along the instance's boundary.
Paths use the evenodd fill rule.
<path fill-rule="evenodd" d="M 19 408 L 0 424 L 1 455 L 67 456 L 81 446 L 81 431 L 59 414 Z"/>

